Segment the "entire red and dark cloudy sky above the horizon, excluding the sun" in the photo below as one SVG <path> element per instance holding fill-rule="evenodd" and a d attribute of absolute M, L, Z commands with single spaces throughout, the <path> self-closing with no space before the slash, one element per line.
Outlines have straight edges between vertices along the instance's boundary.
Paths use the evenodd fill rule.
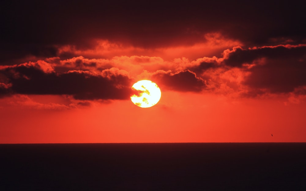
<path fill-rule="evenodd" d="M 2 7 L 0 143 L 306 141 L 298 3 Z M 162 91 L 151 108 L 129 98 L 143 79 Z"/>

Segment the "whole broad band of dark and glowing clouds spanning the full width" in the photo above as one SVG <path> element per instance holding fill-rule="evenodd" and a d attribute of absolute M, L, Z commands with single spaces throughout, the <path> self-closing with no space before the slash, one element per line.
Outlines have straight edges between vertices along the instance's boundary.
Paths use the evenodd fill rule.
<path fill-rule="evenodd" d="M 234 97 L 290 93 L 306 85 L 306 45 L 233 47 L 221 57 L 165 61 L 150 56 L 45 58 L 0 66 L 0 94 L 71 95 L 74 99 L 129 99 L 133 82 L 152 79 L 163 90 Z M 299 94 L 297 92 L 297 94 Z"/>

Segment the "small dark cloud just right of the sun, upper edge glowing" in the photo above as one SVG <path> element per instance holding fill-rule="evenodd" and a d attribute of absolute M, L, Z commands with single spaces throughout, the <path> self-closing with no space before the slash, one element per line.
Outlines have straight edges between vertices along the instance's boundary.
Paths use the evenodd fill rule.
<path fill-rule="evenodd" d="M 161 88 L 181 92 L 201 92 L 206 87 L 205 81 L 196 77 L 196 74 L 190 70 L 177 73 L 157 71 L 152 75 L 152 79 L 160 84 Z"/>

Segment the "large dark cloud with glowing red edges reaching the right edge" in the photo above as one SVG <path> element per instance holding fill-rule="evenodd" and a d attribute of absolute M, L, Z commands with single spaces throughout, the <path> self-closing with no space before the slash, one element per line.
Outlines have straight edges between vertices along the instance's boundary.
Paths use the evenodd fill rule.
<path fill-rule="evenodd" d="M 306 85 L 306 45 L 233 47 L 186 68 L 206 80 L 207 90 L 240 96 L 289 93 Z"/>

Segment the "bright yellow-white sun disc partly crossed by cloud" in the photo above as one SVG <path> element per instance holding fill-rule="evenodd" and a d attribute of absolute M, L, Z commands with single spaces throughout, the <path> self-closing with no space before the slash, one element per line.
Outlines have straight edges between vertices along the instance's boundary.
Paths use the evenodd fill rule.
<path fill-rule="evenodd" d="M 138 107 L 152 107 L 159 102 L 162 95 L 157 84 L 150 80 L 140 80 L 132 86 L 135 92 L 131 96 L 132 102 Z"/>

